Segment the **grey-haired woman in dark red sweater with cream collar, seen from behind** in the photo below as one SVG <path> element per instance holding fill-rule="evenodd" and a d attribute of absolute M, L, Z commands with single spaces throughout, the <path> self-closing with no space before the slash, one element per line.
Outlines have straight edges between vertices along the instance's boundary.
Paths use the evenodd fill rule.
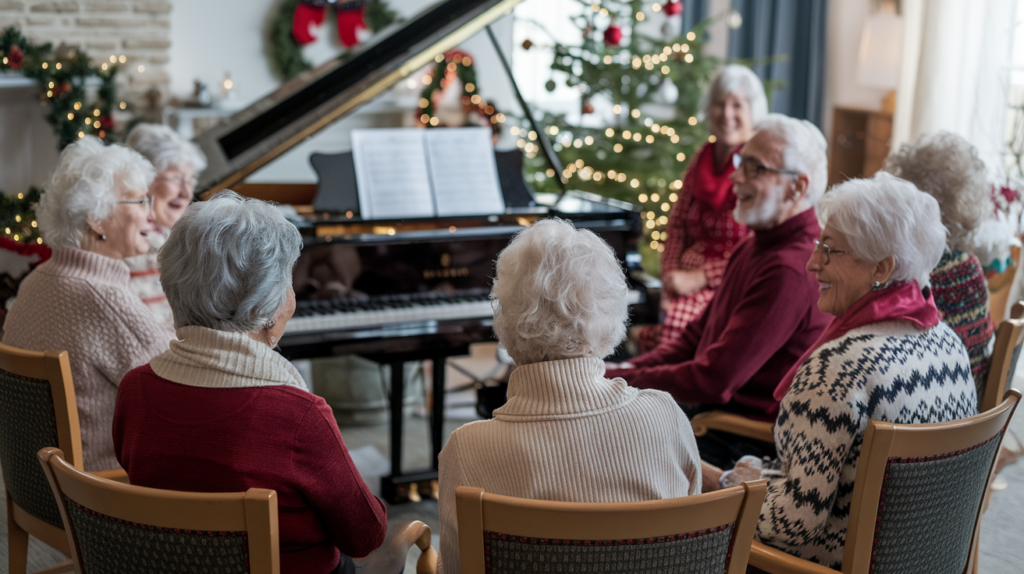
<path fill-rule="evenodd" d="M 282 573 L 350 572 L 384 540 L 387 511 L 331 407 L 273 350 L 301 248 L 272 205 L 232 191 L 185 211 L 160 252 L 178 341 L 121 383 L 114 443 L 132 484 L 275 490 Z"/>

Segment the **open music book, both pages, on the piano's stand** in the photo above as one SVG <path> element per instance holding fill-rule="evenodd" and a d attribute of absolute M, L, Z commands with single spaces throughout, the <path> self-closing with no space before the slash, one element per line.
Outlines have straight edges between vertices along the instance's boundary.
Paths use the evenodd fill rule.
<path fill-rule="evenodd" d="M 505 213 L 487 128 L 352 130 L 362 219 Z"/>

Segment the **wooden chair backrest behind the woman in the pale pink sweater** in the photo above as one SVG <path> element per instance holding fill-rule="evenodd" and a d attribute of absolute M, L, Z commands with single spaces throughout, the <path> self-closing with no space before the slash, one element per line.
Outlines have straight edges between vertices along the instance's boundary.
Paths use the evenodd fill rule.
<path fill-rule="evenodd" d="M 40 528 L 24 524 L 35 523 L 31 520 L 35 518 L 63 529 L 60 511 L 36 459 L 39 449 L 47 446 L 67 449 L 69 462 L 81 468 L 82 437 L 68 352 L 39 353 L 0 344 L 0 466 L 4 485 L 16 504 L 15 518 L 20 513 L 30 515 L 18 521 L 23 528 L 51 543 Z M 46 530 L 45 526 L 42 529 Z M 63 546 L 62 533 L 57 542 Z"/>

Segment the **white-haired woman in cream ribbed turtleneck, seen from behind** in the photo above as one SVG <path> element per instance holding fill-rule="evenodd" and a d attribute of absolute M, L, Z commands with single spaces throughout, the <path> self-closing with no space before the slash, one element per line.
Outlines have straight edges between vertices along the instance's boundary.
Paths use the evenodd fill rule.
<path fill-rule="evenodd" d="M 693 431 L 672 396 L 604 378 L 626 336 L 627 291 L 611 248 L 565 221 L 539 221 L 498 257 L 495 334 L 516 368 L 494 420 L 458 429 L 441 451 L 445 572 L 461 572 L 459 486 L 573 502 L 700 492 Z"/>

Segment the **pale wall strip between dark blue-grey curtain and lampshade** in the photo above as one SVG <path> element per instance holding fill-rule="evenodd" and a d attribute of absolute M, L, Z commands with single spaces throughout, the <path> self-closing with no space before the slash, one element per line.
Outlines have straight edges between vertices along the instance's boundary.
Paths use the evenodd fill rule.
<path fill-rule="evenodd" d="M 857 83 L 857 50 L 870 0 L 829 0 L 825 54 L 824 132 L 830 138 L 833 108 L 837 105 L 881 109 L 886 90 Z"/>

